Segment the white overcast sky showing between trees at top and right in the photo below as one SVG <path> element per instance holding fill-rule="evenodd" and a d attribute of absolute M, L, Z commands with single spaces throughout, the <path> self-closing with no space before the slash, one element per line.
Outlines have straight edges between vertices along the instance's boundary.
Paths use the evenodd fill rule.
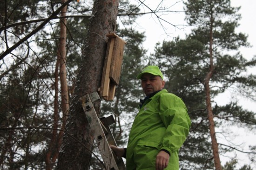
<path fill-rule="evenodd" d="M 141 0 L 143 1 L 143 0 Z M 143 2 L 150 7 L 151 9 L 155 9 L 156 4 L 158 4 L 161 0 L 144 0 Z M 182 11 L 183 10 L 183 3 L 179 2 L 180 0 L 163 0 L 162 6 L 170 7 L 169 10 L 172 11 Z M 175 3 L 179 2 L 179 3 Z M 131 0 L 131 3 L 134 4 L 140 4 L 138 0 Z M 243 57 L 250 59 L 254 55 L 256 55 L 256 22 L 255 22 L 255 16 L 256 16 L 256 0 L 231 0 L 231 6 L 238 7 L 241 6 L 241 9 L 239 11 L 240 14 L 242 14 L 242 19 L 239 21 L 240 26 L 237 28 L 237 32 L 243 32 L 245 34 L 248 34 L 248 42 L 252 45 L 251 48 L 241 48 L 240 52 L 243 54 Z M 148 12 L 147 7 L 141 6 L 141 12 Z M 168 13 L 168 15 L 162 15 L 164 19 L 166 19 L 169 23 L 173 25 L 187 25 L 186 21 L 184 20 L 184 13 L 183 12 L 176 12 L 176 13 Z M 156 19 L 154 14 L 147 14 L 142 16 L 137 20 L 136 27 L 134 29 L 138 31 L 144 31 L 145 35 L 147 36 L 147 39 L 145 43 L 143 44 L 143 48 L 148 50 L 148 54 L 152 53 L 154 51 L 155 44 L 157 42 L 161 42 L 163 40 L 172 40 L 172 38 L 180 36 L 181 38 L 185 37 L 185 34 L 189 34 L 189 27 L 184 26 L 178 26 L 178 29 L 174 26 L 165 23 L 164 27 L 166 29 L 166 32 L 163 30 L 162 25 L 159 23 L 159 21 Z M 168 35 L 166 34 L 168 33 Z M 236 97 L 233 95 L 232 92 L 227 92 L 224 94 L 219 95 L 216 100 L 218 102 L 218 105 L 224 105 L 227 104 L 230 100 L 238 100 L 240 99 L 239 103 L 244 106 L 244 108 L 251 110 L 253 112 L 256 112 L 256 102 L 249 101 L 247 99 L 242 99 L 241 97 Z M 256 131 L 248 131 L 243 128 L 236 128 L 236 127 L 223 127 L 224 129 L 217 129 L 220 131 L 229 131 L 231 132 L 229 139 L 232 140 L 235 144 L 240 145 L 240 149 L 243 148 L 245 151 L 248 151 L 249 145 L 255 145 L 256 141 Z M 218 142 L 225 143 L 225 139 L 223 136 L 218 136 Z M 242 166 L 243 164 L 250 164 L 248 157 L 246 154 L 236 152 L 236 153 L 230 153 L 225 156 L 221 156 L 222 165 L 229 160 L 227 156 L 234 156 L 237 155 L 238 158 L 238 164 Z M 253 170 L 256 170 L 256 163 L 250 164 Z"/>

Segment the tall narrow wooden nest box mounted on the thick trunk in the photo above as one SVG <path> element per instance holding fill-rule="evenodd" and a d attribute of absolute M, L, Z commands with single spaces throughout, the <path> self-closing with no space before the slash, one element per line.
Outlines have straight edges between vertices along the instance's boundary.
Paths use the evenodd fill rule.
<path fill-rule="evenodd" d="M 100 96 L 106 101 L 115 97 L 115 87 L 121 75 L 123 49 L 126 42 L 115 33 L 107 34 L 108 45 L 101 78 Z"/>

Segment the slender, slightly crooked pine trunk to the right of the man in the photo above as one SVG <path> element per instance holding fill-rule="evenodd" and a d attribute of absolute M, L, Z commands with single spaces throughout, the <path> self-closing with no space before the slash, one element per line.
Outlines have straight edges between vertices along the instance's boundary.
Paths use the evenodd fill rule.
<path fill-rule="evenodd" d="M 213 112 L 212 112 L 211 97 L 210 97 L 210 86 L 209 86 L 209 81 L 212 78 L 212 75 L 214 72 L 212 45 L 213 45 L 213 17 L 211 17 L 211 26 L 210 26 L 210 44 L 209 44 L 210 68 L 207 76 L 205 77 L 204 87 L 205 87 L 205 94 L 206 94 L 206 107 L 208 111 L 209 130 L 210 130 L 210 136 L 212 141 L 214 164 L 215 164 L 216 170 L 221 170 L 221 162 L 220 162 L 219 148 L 218 148 L 216 133 L 215 133 L 215 125 L 213 120 Z"/>

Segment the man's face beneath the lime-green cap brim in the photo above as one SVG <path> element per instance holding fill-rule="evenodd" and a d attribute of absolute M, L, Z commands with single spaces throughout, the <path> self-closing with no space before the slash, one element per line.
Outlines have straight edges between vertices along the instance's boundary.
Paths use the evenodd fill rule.
<path fill-rule="evenodd" d="M 146 96 L 161 90 L 164 87 L 164 84 L 165 82 L 160 76 L 154 76 L 149 73 L 145 73 L 141 76 L 141 87 Z"/>

